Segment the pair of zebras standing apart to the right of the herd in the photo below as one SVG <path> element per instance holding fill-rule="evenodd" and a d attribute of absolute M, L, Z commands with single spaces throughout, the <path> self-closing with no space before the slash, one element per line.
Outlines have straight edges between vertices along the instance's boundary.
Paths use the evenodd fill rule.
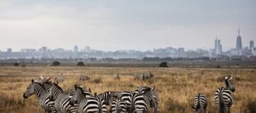
<path fill-rule="evenodd" d="M 232 79 L 233 77 L 225 77 L 225 86 L 218 88 L 215 92 L 214 100 L 219 113 L 229 113 L 230 107 L 233 105 L 234 99 L 232 93 L 235 92 L 235 86 L 231 82 Z M 192 108 L 195 109 L 197 113 L 206 112 L 207 105 L 208 101 L 206 95 L 202 93 L 195 95 Z"/>

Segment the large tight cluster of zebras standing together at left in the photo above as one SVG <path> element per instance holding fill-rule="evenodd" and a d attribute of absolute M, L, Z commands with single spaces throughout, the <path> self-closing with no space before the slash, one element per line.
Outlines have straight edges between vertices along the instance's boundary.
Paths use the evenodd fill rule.
<path fill-rule="evenodd" d="M 64 91 L 59 85 L 58 77 L 53 83 L 50 77 L 31 80 L 23 98 L 35 94 L 38 97 L 42 112 L 86 112 L 86 113 L 144 113 L 149 109 L 159 113 L 159 97 L 156 88 L 142 85 L 134 91 L 107 91 L 97 95 L 85 90 L 82 86 Z M 110 106 L 110 111 L 107 111 Z"/>

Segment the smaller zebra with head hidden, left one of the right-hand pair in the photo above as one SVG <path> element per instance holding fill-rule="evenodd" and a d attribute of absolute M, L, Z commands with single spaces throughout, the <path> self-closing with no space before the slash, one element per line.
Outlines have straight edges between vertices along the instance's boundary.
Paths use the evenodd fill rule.
<path fill-rule="evenodd" d="M 208 105 L 206 95 L 203 95 L 202 93 L 198 93 L 194 96 L 193 100 L 193 109 L 196 109 L 197 113 L 205 113 L 206 107 Z"/>

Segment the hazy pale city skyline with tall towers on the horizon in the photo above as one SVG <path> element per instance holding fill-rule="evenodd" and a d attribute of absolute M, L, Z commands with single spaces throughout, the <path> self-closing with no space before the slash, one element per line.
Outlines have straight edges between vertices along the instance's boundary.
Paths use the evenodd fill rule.
<path fill-rule="evenodd" d="M 234 39 L 235 40 L 235 39 Z M 231 40 L 230 40 L 231 41 Z M 228 59 L 229 57 L 250 57 L 256 55 L 256 47 L 254 47 L 254 41 L 250 40 L 249 45 L 242 48 L 242 38 L 240 36 L 240 29 L 238 29 L 238 36 L 236 38 L 236 44 L 233 49 L 223 52 L 220 39 L 216 37 L 214 49 L 196 49 L 185 50 L 183 47 L 178 49 L 174 47 L 166 47 L 148 50 L 141 52 L 137 50 L 118 50 L 115 52 L 103 52 L 101 50 L 91 49 L 85 46 L 82 49 L 78 49 L 75 45 L 73 49 L 48 49 L 48 47 L 41 47 L 40 49 L 21 49 L 20 52 L 12 52 L 11 48 L 8 48 L 6 52 L 0 51 L 0 59 L 123 59 L 123 58 L 135 58 L 142 59 L 144 57 L 171 57 L 171 58 L 221 58 Z"/>

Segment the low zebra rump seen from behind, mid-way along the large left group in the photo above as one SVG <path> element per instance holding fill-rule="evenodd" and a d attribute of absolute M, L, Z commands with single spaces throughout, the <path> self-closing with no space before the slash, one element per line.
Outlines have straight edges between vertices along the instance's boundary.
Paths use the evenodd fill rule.
<path fill-rule="evenodd" d="M 112 113 L 127 113 L 125 101 L 118 97 L 112 96 L 112 104 L 110 106 L 110 112 Z"/>

